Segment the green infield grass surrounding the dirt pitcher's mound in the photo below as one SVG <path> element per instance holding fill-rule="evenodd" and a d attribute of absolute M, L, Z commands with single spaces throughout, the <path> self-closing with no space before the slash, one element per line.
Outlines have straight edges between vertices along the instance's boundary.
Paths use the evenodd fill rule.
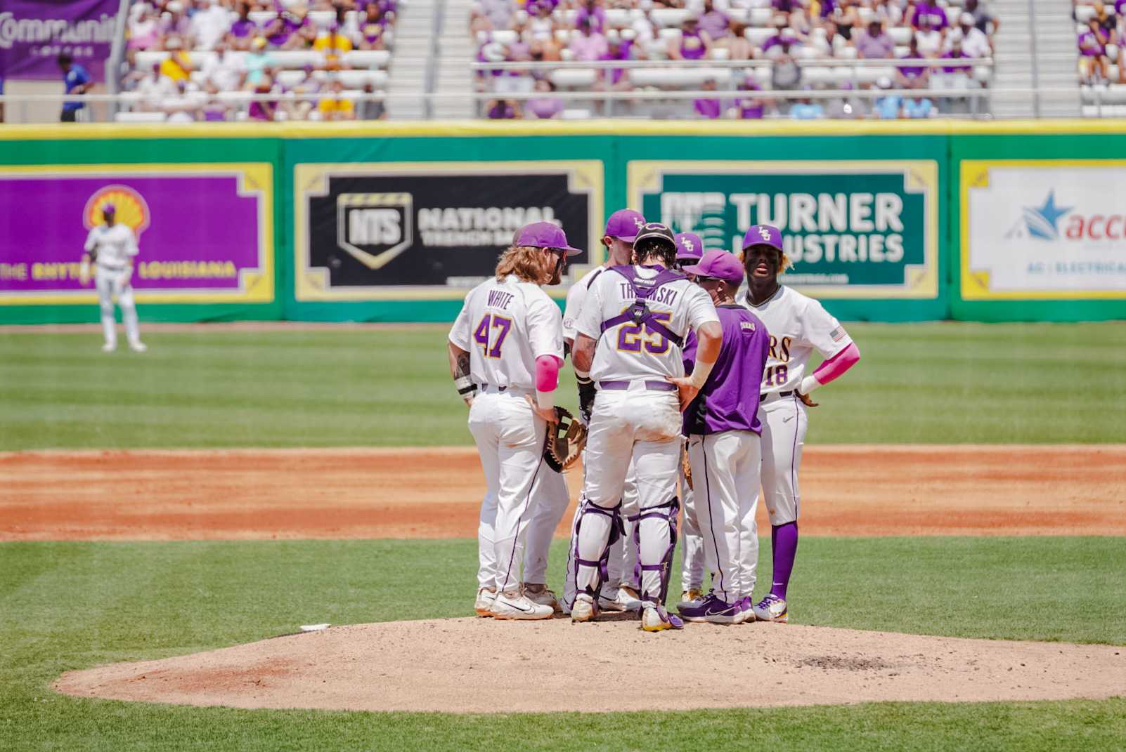
<path fill-rule="evenodd" d="M 553 551 L 555 574 L 563 547 Z M 802 547 L 790 591 L 802 624 L 1126 644 L 1121 538 L 810 538 Z M 1126 739 L 1126 699 L 448 716 L 199 709 L 48 689 L 69 669 L 233 645 L 309 622 L 468 616 L 475 559 L 472 541 L 2 545 L 0 749 L 634 750 L 738 741 L 1120 750 Z M 761 565 L 769 581 L 765 551 Z M 419 582 L 426 598 L 412 597 Z M 690 655 L 683 665 L 690 670 Z"/>

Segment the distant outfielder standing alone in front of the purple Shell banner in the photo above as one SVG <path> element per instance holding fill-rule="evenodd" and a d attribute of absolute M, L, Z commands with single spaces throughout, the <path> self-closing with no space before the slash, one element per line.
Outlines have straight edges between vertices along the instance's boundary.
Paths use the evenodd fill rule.
<path fill-rule="evenodd" d="M 111 353 L 117 350 L 117 328 L 114 323 L 114 298 L 122 307 L 122 320 L 125 323 L 125 336 L 129 350 L 143 353 L 148 350 L 141 342 L 141 327 L 137 324 L 137 309 L 133 300 L 133 257 L 137 255 L 137 241 L 133 229 L 117 221 L 117 208 L 113 203 L 101 207 L 104 225 L 97 225 L 86 236 L 82 264 L 79 266 L 79 282 L 90 283 L 90 263 L 95 264 L 93 286 L 98 290 L 98 306 L 101 308 L 101 330 L 106 344 L 101 351 Z"/>

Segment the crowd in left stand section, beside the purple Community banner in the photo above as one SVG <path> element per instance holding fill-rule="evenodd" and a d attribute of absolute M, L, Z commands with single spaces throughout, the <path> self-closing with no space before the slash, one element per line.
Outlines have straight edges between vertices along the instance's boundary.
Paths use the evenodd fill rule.
<path fill-rule="evenodd" d="M 140 0 L 118 119 L 379 119 L 402 0 Z M 366 96 L 365 96 L 366 94 Z"/>

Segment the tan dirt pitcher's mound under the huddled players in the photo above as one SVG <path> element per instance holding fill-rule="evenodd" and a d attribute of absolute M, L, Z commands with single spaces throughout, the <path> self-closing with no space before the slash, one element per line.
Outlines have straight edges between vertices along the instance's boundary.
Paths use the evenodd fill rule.
<path fill-rule="evenodd" d="M 781 624 L 482 618 L 332 627 L 63 674 L 81 697 L 239 708 L 501 713 L 1106 698 L 1126 649 Z"/>

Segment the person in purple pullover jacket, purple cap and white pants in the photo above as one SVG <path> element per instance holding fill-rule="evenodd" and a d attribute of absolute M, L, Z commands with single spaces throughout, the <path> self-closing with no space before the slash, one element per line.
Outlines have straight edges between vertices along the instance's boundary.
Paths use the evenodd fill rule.
<path fill-rule="evenodd" d="M 762 462 L 759 386 L 769 335 L 754 314 L 735 302 L 743 283 L 739 259 L 726 251 L 708 251 L 698 264 L 683 266 L 683 271 L 696 278 L 715 303 L 723 344 L 712 375 L 685 413 L 696 517 L 712 590 L 678 610 L 691 622 L 753 622 L 751 595 L 759 560 L 754 513 Z M 686 369 L 695 355 L 696 342 L 689 335 Z"/>

